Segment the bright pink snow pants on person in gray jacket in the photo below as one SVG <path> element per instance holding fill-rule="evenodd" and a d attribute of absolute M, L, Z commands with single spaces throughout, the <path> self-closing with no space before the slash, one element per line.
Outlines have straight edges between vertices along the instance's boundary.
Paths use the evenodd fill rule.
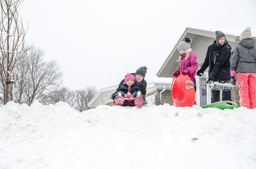
<path fill-rule="evenodd" d="M 240 73 L 237 75 L 240 107 L 256 108 L 256 73 Z"/>

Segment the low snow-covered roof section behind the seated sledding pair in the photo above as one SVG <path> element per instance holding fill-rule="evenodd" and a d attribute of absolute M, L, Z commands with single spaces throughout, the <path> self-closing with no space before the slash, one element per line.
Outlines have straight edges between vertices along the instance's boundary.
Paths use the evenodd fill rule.
<path fill-rule="evenodd" d="M 108 104 L 113 100 L 110 99 L 112 93 L 116 92 L 116 89 L 119 84 L 108 86 L 100 89 L 100 91 L 92 98 L 88 103 L 88 107 L 95 107 L 99 104 Z M 172 78 L 169 77 L 157 77 L 155 80 L 147 80 L 147 93 L 154 92 L 156 89 L 162 90 L 171 90 L 172 88 Z"/>

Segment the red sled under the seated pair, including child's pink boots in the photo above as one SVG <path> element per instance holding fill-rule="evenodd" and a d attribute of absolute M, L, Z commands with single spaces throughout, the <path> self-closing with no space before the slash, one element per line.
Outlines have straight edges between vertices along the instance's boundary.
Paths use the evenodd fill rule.
<path fill-rule="evenodd" d="M 114 99 L 113 105 L 118 105 L 118 106 L 138 106 L 142 107 L 144 103 L 144 99 L 140 96 L 133 98 L 132 95 L 127 95 L 125 94 L 124 97 L 122 96 L 116 96 Z"/>

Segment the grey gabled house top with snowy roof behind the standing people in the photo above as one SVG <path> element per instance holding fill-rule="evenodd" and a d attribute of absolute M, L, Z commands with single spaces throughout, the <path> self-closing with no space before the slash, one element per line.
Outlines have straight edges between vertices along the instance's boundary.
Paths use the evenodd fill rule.
<path fill-rule="evenodd" d="M 233 48 L 239 42 L 239 35 L 243 31 L 243 29 L 232 29 L 232 28 L 220 28 L 220 27 L 213 27 L 213 28 L 192 28 L 187 27 L 183 34 L 181 35 L 180 39 L 172 49 L 171 53 L 164 61 L 164 64 L 161 66 L 160 70 L 157 72 L 157 77 L 172 77 L 172 72 L 177 69 L 178 62 L 176 60 L 180 56 L 177 48 L 181 41 L 185 39 L 185 37 L 191 38 L 190 46 L 196 46 L 193 44 L 195 41 L 196 43 L 200 43 L 197 45 L 197 49 L 192 48 L 192 50 L 197 55 L 197 62 L 201 64 L 204 61 L 205 53 L 207 48 L 210 44 L 213 43 L 215 40 L 215 31 L 220 30 L 226 35 L 226 39 L 229 41 L 230 46 Z M 252 38 L 256 40 L 256 30 L 252 30 Z M 200 40 L 200 41 L 199 41 Z M 199 42 L 198 42 L 199 41 Z M 195 51 L 196 50 L 196 51 Z"/>

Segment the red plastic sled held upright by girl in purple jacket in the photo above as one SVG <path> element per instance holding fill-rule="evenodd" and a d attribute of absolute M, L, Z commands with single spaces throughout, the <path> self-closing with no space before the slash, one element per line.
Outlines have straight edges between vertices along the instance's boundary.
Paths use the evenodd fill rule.
<path fill-rule="evenodd" d="M 175 107 L 192 107 L 195 104 L 195 88 L 188 75 L 180 74 L 172 80 L 172 102 Z"/>

